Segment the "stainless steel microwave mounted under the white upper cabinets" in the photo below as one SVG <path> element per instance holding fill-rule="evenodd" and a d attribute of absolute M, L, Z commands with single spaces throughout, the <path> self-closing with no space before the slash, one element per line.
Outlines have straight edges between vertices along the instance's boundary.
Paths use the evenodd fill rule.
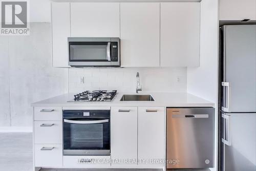
<path fill-rule="evenodd" d="M 71 67 L 120 67 L 120 38 L 68 37 Z"/>

